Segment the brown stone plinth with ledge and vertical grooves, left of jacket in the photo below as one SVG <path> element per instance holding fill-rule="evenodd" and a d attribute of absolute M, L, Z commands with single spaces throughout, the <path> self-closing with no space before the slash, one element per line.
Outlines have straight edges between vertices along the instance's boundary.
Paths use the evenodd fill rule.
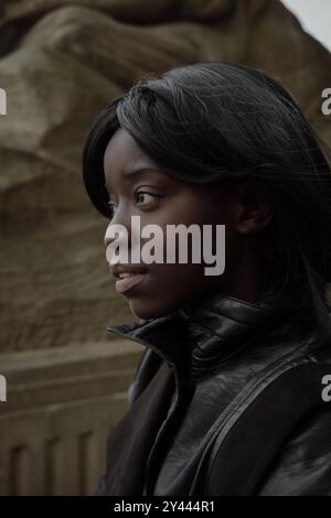
<path fill-rule="evenodd" d="M 4 354 L 0 495 L 88 495 L 127 409 L 142 347 L 132 342 Z"/>

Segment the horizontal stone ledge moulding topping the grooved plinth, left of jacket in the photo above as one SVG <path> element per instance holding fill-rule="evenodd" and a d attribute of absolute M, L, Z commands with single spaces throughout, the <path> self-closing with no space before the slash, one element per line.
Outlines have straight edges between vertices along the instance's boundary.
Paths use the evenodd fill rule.
<path fill-rule="evenodd" d="M 0 416 L 126 392 L 143 346 L 129 341 L 0 355 L 7 402 Z"/>

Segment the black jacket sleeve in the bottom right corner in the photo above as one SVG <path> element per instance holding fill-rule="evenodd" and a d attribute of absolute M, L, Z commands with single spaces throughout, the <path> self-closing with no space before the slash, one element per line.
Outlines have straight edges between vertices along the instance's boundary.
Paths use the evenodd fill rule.
<path fill-rule="evenodd" d="M 297 427 L 258 496 L 331 496 L 331 403 Z"/>

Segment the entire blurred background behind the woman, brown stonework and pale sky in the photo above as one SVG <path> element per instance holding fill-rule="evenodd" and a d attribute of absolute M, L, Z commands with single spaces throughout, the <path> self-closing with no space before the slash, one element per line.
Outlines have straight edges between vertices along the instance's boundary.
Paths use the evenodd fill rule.
<path fill-rule="evenodd" d="M 127 408 L 142 347 L 82 181 L 104 106 L 141 76 L 199 61 L 259 67 L 327 143 L 329 0 L 2 0 L 0 4 L 0 494 L 85 495 Z"/>

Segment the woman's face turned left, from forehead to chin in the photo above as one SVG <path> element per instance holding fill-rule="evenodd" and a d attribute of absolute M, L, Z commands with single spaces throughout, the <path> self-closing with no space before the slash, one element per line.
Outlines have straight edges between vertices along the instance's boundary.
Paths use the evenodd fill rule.
<path fill-rule="evenodd" d="M 206 265 L 203 261 L 190 261 L 190 247 L 188 263 L 180 263 L 178 255 L 175 263 L 146 265 L 141 260 L 140 267 L 145 267 L 146 272 L 140 282 L 124 292 L 134 314 L 140 319 L 154 319 L 175 311 L 210 291 L 231 289 L 239 257 L 237 235 L 234 231 L 234 192 L 228 188 L 223 192 L 220 186 L 215 188 L 215 185 L 193 184 L 170 177 L 140 150 L 122 128 L 115 132 L 106 148 L 104 170 L 105 185 L 114 208 L 109 225 L 120 224 L 126 227 L 129 250 L 131 216 L 140 216 L 141 228 L 157 224 L 163 229 L 164 250 L 168 225 L 212 225 L 214 231 L 216 224 L 225 225 L 223 274 L 206 276 Z M 141 247 L 147 240 L 149 239 L 141 238 Z M 109 242 L 110 239 L 106 236 L 106 246 Z"/>

